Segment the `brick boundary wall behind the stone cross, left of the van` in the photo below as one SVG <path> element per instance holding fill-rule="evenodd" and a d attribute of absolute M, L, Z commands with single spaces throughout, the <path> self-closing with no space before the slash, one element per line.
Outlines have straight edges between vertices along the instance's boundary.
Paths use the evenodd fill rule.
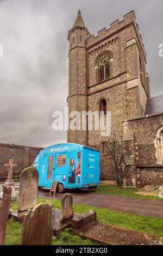
<path fill-rule="evenodd" d="M 14 163 L 17 163 L 17 167 L 13 169 L 13 174 L 20 175 L 24 168 L 31 166 L 42 149 L 23 145 L 10 147 L 10 144 L 0 143 L 0 180 L 6 179 L 7 168 L 4 167 L 4 163 L 9 163 L 9 159 L 14 159 Z"/>

